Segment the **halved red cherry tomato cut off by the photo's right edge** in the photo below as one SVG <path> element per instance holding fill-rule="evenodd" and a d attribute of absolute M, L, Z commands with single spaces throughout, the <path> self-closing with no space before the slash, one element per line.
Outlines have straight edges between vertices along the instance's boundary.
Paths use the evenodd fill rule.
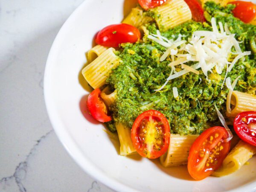
<path fill-rule="evenodd" d="M 256 146 L 256 111 L 239 113 L 234 121 L 234 130 L 241 140 Z"/>

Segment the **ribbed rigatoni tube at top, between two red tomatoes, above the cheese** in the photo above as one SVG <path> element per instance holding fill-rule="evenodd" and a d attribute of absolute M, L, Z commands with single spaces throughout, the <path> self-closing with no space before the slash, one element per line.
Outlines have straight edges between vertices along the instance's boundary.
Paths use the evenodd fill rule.
<path fill-rule="evenodd" d="M 168 0 L 162 6 L 154 8 L 160 17 L 155 20 L 160 30 L 167 30 L 192 19 L 189 6 L 184 0 Z"/>

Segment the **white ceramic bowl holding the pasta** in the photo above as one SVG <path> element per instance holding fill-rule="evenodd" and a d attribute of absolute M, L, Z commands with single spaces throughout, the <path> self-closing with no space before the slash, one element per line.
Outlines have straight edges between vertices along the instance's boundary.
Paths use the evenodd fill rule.
<path fill-rule="evenodd" d="M 61 143 L 84 171 L 117 191 L 256 191 L 256 157 L 227 177 L 194 181 L 186 166 L 163 168 L 158 160 L 119 156 L 118 142 L 87 113 L 90 90 L 79 75 L 86 63 L 84 53 L 92 47 L 97 31 L 121 22 L 124 4 L 131 1 L 86 0 L 55 38 L 45 70 L 44 94 Z"/>

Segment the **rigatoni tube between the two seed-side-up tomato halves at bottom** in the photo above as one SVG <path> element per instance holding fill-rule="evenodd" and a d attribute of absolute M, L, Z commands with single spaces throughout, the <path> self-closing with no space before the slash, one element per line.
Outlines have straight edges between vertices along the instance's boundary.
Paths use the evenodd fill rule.
<path fill-rule="evenodd" d="M 179 166 L 188 163 L 189 150 L 198 135 L 171 134 L 168 151 L 160 157 L 164 167 Z"/>

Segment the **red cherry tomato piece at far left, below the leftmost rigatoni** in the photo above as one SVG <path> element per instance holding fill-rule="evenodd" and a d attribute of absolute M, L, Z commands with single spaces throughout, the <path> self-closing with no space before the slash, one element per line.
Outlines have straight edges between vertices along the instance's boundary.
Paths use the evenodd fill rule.
<path fill-rule="evenodd" d="M 100 97 L 101 90 L 99 88 L 93 90 L 87 99 L 87 108 L 94 119 L 99 122 L 111 121 L 111 116 L 108 116 L 108 108 Z"/>

